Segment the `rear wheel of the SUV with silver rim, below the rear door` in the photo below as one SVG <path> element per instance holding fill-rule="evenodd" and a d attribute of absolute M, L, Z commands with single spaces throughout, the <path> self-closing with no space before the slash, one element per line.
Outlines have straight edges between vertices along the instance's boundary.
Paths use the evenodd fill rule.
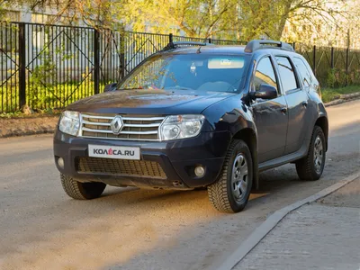
<path fill-rule="evenodd" d="M 319 180 L 324 171 L 326 160 L 326 140 L 322 129 L 315 126 L 312 131 L 308 155 L 295 163 L 296 172 L 301 180 Z"/>

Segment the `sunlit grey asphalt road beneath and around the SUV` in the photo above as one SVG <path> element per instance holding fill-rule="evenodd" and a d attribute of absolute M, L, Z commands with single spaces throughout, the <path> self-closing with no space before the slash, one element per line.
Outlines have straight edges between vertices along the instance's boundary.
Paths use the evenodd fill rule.
<path fill-rule="evenodd" d="M 216 267 L 266 216 L 359 169 L 360 101 L 329 107 L 324 175 L 294 166 L 261 175 L 245 211 L 212 209 L 206 191 L 106 188 L 71 200 L 53 164 L 52 136 L 0 139 L 0 269 L 202 269 Z"/>

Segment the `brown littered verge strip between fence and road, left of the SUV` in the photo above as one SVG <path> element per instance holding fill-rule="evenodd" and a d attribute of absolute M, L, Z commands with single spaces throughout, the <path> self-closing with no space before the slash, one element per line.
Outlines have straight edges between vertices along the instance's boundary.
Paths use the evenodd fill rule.
<path fill-rule="evenodd" d="M 57 122 L 58 115 L 0 118 L 0 138 L 53 133 Z"/>

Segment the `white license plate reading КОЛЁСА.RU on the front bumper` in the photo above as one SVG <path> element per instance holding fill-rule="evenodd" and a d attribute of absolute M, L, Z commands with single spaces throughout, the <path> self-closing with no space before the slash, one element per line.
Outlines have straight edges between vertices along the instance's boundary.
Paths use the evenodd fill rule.
<path fill-rule="evenodd" d="M 89 145 L 89 157 L 140 159 L 140 148 Z"/>

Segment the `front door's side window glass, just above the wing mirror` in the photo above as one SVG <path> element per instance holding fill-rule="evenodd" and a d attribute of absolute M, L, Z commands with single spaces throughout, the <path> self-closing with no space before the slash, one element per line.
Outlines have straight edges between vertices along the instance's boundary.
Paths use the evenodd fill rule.
<path fill-rule="evenodd" d="M 257 65 L 253 85 L 255 91 L 260 89 L 261 84 L 272 85 L 277 89 L 276 76 L 270 58 L 262 58 Z"/>

